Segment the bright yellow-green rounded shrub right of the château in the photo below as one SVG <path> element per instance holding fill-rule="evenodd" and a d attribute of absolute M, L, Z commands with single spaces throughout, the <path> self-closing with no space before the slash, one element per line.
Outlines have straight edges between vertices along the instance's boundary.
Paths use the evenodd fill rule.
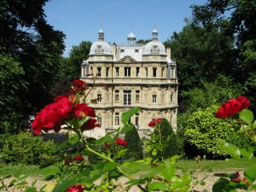
<path fill-rule="evenodd" d="M 238 147 L 248 147 L 251 143 L 249 139 L 237 133 L 240 124 L 237 119 L 218 119 L 215 112 L 218 106 L 207 109 L 198 109 L 189 116 L 185 126 L 184 136 L 186 142 L 195 146 L 198 153 L 206 154 L 207 158 L 223 157 L 226 153 L 222 146 L 227 141 L 239 145 Z"/>

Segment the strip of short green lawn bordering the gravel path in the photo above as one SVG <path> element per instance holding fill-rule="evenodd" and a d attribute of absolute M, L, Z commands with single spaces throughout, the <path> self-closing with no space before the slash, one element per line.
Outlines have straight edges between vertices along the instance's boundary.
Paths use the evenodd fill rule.
<path fill-rule="evenodd" d="M 201 168 L 207 172 L 221 171 L 229 172 L 234 170 L 244 170 L 249 166 L 256 166 L 256 158 L 253 160 L 178 160 L 177 169 L 183 172 L 188 172 Z M 11 166 L 0 164 L 0 175 L 13 175 L 15 177 L 20 174 L 26 174 L 32 177 L 45 177 L 50 173 L 58 171 L 57 166 L 49 166 L 44 169 L 39 169 L 38 166 Z"/>

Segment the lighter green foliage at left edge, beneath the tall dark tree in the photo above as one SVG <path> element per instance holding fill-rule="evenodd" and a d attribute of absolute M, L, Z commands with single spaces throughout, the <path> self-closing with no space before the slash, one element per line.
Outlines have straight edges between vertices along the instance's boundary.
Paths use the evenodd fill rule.
<path fill-rule="evenodd" d="M 24 122 L 21 114 L 24 102 L 17 98 L 21 91 L 27 90 L 24 74 L 20 62 L 0 53 L 0 133 L 18 131 L 20 122 Z"/>

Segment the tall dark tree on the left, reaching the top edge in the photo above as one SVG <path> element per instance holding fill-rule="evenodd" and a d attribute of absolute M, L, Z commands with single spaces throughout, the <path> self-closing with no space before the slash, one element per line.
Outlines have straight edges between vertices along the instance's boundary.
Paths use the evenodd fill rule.
<path fill-rule="evenodd" d="M 20 72 L 24 74 L 20 74 L 18 78 L 20 83 L 26 84 L 26 89 L 18 84 L 20 91 L 3 87 L 5 96 L 14 96 L 12 91 L 15 91 L 15 101 L 20 102 L 18 106 L 10 102 L 5 106 L 9 111 L 20 114 L 15 117 L 9 115 L 5 119 L 5 125 L 11 123 L 27 127 L 29 116 L 50 101 L 47 90 L 53 86 L 65 36 L 46 22 L 43 9 L 46 2 L 47 0 L 3 0 L 0 3 L 0 54 L 8 58 L 9 69 L 20 63 Z M 5 70 L 3 66 L 0 71 L 2 70 Z M 1 76 L 0 81 L 5 85 L 9 84 L 5 77 Z M 5 114 L 1 113 L 1 117 L 3 115 Z M 17 129 L 12 127 L 11 130 Z"/>

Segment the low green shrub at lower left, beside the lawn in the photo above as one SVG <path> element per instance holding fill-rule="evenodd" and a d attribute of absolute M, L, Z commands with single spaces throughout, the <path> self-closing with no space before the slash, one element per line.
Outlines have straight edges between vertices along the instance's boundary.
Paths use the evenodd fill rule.
<path fill-rule="evenodd" d="M 44 142 L 43 137 L 32 136 L 29 132 L 9 135 L 4 139 L 1 155 L 6 163 L 39 165 L 53 158 L 54 143 Z"/>

